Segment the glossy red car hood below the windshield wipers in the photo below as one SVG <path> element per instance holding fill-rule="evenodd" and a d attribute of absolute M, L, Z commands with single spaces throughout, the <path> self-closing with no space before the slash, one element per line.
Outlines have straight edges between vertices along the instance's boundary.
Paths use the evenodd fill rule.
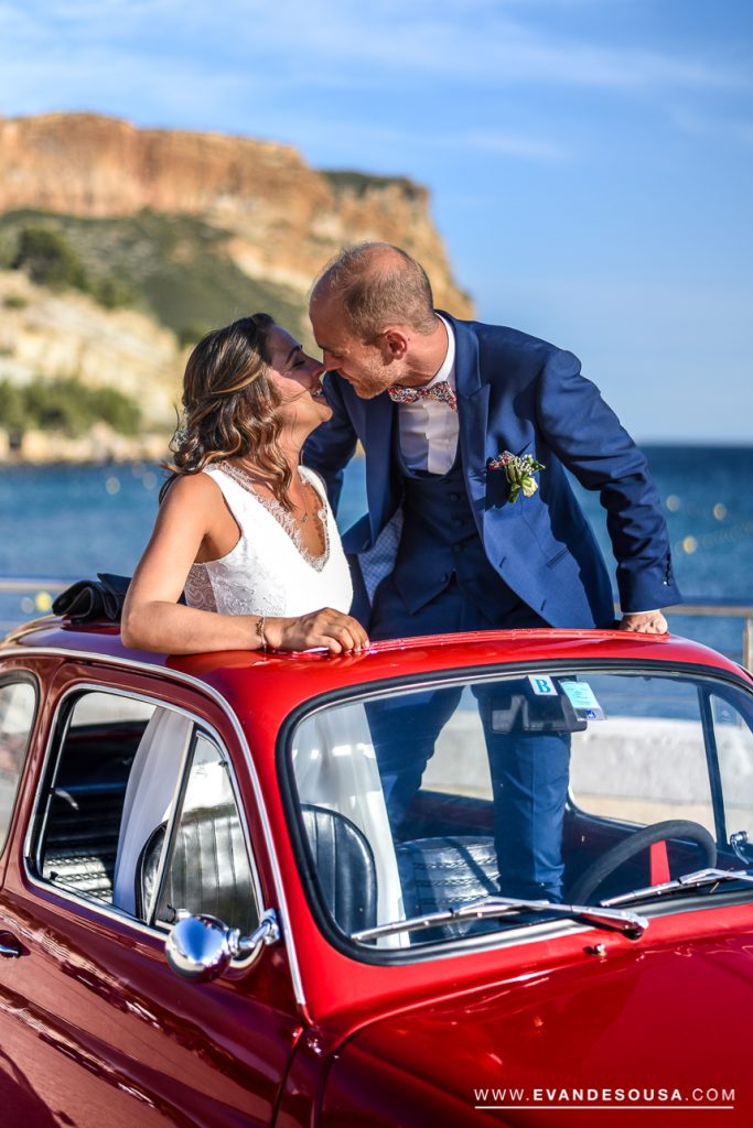
<path fill-rule="evenodd" d="M 338 1054 L 323 1125 L 345 1123 L 349 1102 L 364 1125 L 551 1123 L 545 1104 L 608 1109 L 620 1093 L 631 1107 L 673 1105 L 671 1125 L 684 1122 L 678 1103 L 690 1116 L 703 1102 L 716 1114 L 732 1102 L 723 1122 L 750 1125 L 753 931 L 662 948 L 647 936 L 629 952 L 611 955 L 607 940 L 604 957 L 373 1022 Z M 369 1092 L 366 1107 L 384 1119 L 359 1114 Z M 587 1122 L 604 1116 L 594 1109 Z M 621 1109 L 619 1123 L 632 1121 Z"/>

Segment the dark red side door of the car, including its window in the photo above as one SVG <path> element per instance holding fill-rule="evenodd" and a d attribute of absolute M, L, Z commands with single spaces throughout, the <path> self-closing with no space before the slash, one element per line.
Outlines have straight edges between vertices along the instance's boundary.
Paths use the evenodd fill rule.
<path fill-rule="evenodd" d="M 220 907 L 245 931 L 269 907 L 227 717 L 177 681 L 80 664 L 63 667 L 50 693 L 44 763 L 0 895 L 18 953 L 0 959 L 0 1107 L 18 1110 L 3 1122 L 269 1125 L 299 1032 L 283 946 L 203 985 L 181 979 L 164 952 L 181 908 Z M 152 763 L 141 755 L 140 765 L 145 742 Z M 155 757 L 173 773 L 166 785 L 155 783 Z M 240 874 L 220 893 L 208 876 L 222 869 L 212 820 L 231 826 Z M 116 879 L 131 900 L 119 901 Z"/>

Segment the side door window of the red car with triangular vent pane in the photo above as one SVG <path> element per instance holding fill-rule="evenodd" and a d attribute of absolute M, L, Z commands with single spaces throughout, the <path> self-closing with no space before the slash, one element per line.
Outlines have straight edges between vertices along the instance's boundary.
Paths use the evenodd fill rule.
<path fill-rule="evenodd" d="M 228 770 L 218 746 L 183 712 L 123 694 L 78 696 L 61 716 L 41 796 L 37 875 L 146 924 L 155 923 L 163 881 L 175 911 L 219 915 L 220 889 L 248 900 L 251 870 Z M 182 828 L 198 805 L 201 835 L 189 847 Z M 228 825 L 233 854 L 217 848 Z M 181 858 L 190 874 L 176 885 L 168 879 Z M 226 870 L 230 863 L 235 869 Z M 195 872 L 203 876 L 199 887 Z M 246 918 L 254 911 L 247 907 Z M 165 911 L 160 919 L 174 916 Z"/>

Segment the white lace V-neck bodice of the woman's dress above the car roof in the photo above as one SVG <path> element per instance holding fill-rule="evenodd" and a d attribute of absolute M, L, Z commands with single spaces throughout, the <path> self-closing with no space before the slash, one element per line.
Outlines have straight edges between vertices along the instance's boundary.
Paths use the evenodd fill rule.
<path fill-rule="evenodd" d="M 321 607 L 348 611 L 353 598 L 350 570 L 319 477 L 305 466 L 300 476 L 321 501 L 322 556 L 306 552 L 294 518 L 279 502 L 262 497 L 243 470 L 224 462 L 203 470 L 222 491 L 240 539 L 218 561 L 194 564 L 185 584 L 190 607 L 226 615 L 305 615 Z"/>

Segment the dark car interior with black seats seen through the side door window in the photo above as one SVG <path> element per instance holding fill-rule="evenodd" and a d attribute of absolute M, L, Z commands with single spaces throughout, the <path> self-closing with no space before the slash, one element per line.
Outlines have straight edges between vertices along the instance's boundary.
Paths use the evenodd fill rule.
<path fill-rule="evenodd" d="M 107 694 L 69 704 L 36 816 L 33 865 L 43 880 L 121 908 L 114 885 L 129 778 L 151 717 L 159 712 L 166 711 Z M 257 923 L 257 913 L 231 793 L 225 788 L 214 801 L 204 794 L 203 805 L 189 800 L 202 744 L 210 756 L 216 751 L 205 735 L 194 734 L 180 817 L 160 818 L 145 836 L 132 879 L 134 907 L 128 911 L 156 926 L 172 924 L 178 909 L 209 913 L 245 933 Z M 200 774 L 202 768 L 200 783 L 205 787 L 205 763 Z"/>

